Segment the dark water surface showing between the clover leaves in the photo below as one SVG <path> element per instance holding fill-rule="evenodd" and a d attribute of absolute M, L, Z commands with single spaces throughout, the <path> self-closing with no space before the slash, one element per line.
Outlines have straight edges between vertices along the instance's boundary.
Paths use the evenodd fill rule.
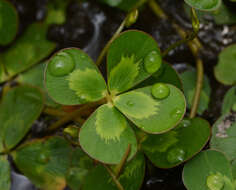
<path fill-rule="evenodd" d="M 34 21 L 45 18 L 47 13 L 45 4 L 47 0 L 11 0 L 20 14 L 20 29 L 18 37 L 26 27 Z M 181 1 L 165 0 L 161 6 L 166 13 L 186 30 L 191 30 L 191 24 L 186 18 Z M 235 7 L 234 11 L 236 11 Z M 48 32 L 48 38 L 58 43 L 57 50 L 66 47 L 79 47 L 86 51 L 94 60 L 118 28 L 125 14 L 119 10 L 100 5 L 93 0 L 78 4 L 78 1 L 71 1 L 67 8 L 67 21 L 62 26 L 53 25 Z M 139 19 L 133 29 L 140 29 L 151 34 L 158 42 L 162 50 L 173 44 L 180 37 L 176 34 L 171 24 L 156 18 L 148 7 L 140 12 Z M 219 117 L 223 95 L 228 87 L 218 83 L 213 75 L 213 66 L 217 63 L 218 53 L 229 44 L 236 42 L 235 30 L 229 26 L 216 26 L 212 18 L 201 24 L 199 32 L 200 41 L 204 45 L 202 58 L 204 69 L 210 79 L 212 95 L 209 109 L 205 112 L 204 118 L 211 124 Z M 5 49 L 5 48 L 0 48 Z M 188 64 L 194 66 L 194 58 L 185 45 L 170 52 L 166 60 L 178 71 L 182 71 Z M 101 65 L 105 73 L 105 64 Z M 44 126 L 39 120 L 37 126 Z M 13 168 L 15 168 L 13 166 Z M 163 170 L 154 168 L 148 163 L 146 176 L 142 190 L 184 190 L 181 175 L 183 166 Z M 16 170 L 16 169 L 13 169 Z M 34 190 L 36 189 L 18 171 L 12 172 L 12 190 Z M 95 189 L 96 190 L 96 189 Z"/>

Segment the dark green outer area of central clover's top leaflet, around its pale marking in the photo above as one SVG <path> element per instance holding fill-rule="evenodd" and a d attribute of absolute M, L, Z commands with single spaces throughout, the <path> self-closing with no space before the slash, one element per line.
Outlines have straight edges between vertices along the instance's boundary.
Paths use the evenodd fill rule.
<path fill-rule="evenodd" d="M 107 78 L 110 78 L 111 71 L 120 63 L 122 57 L 134 56 L 134 63 L 139 63 L 139 65 L 137 65 L 139 72 L 131 87 L 142 82 L 151 76 L 151 74 L 145 70 L 143 64 L 146 56 L 152 51 L 157 52 L 160 56 L 160 50 L 156 41 L 148 34 L 136 30 L 123 32 L 112 42 L 107 52 Z"/>

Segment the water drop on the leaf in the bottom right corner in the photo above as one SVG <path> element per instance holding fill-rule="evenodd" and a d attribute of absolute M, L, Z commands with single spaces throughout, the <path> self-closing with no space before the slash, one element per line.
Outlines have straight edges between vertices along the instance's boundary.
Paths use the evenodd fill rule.
<path fill-rule="evenodd" d="M 224 187 L 224 183 L 224 178 L 219 172 L 209 175 L 206 180 L 209 190 L 221 190 Z"/>

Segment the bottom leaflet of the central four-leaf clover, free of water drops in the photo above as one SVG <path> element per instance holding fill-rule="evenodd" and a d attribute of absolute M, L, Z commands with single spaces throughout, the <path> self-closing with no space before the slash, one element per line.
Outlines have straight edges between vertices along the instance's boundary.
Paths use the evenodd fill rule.
<path fill-rule="evenodd" d="M 134 131 L 125 117 L 109 104 L 99 107 L 84 123 L 79 142 L 89 156 L 107 164 L 118 164 L 129 144 L 131 152 L 128 160 L 137 151 Z"/>

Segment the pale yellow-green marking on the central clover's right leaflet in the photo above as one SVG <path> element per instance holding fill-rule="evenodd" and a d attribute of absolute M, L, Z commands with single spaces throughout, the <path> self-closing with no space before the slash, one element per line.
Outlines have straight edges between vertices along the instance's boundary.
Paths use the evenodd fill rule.
<path fill-rule="evenodd" d="M 136 119 L 149 118 L 155 115 L 158 112 L 159 105 L 158 101 L 154 101 L 147 94 L 135 91 L 117 96 L 114 103 L 125 115 Z"/>

